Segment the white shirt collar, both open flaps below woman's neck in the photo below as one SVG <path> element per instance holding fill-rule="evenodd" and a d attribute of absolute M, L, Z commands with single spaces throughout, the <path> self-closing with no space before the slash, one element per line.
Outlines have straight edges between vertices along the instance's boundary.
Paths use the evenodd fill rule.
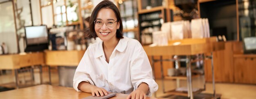
<path fill-rule="evenodd" d="M 124 37 L 122 39 L 119 40 L 117 46 L 116 46 L 116 50 L 119 52 L 123 52 L 126 49 L 128 43 L 128 38 Z M 103 51 L 103 41 L 99 41 L 99 43 L 97 44 L 96 50 L 95 50 L 95 54 L 94 54 L 94 58 L 100 57 L 104 55 L 104 51 Z M 115 51 L 114 49 L 114 51 Z"/>

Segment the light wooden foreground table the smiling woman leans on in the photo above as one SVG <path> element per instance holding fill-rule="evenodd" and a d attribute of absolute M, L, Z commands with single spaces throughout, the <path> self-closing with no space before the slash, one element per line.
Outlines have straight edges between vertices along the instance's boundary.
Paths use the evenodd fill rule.
<path fill-rule="evenodd" d="M 76 92 L 73 88 L 52 85 L 38 85 L 0 92 L 1 99 L 81 99 L 91 95 L 91 93 Z M 126 99 L 127 96 L 117 93 L 110 99 Z M 147 99 L 161 98 L 147 97 Z"/>

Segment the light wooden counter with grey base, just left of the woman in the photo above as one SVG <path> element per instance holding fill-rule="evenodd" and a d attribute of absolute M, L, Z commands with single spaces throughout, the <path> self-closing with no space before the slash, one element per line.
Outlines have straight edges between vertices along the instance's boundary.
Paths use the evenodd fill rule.
<path fill-rule="evenodd" d="M 85 51 L 45 51 L 45 64 L 58 66 L 59 85 L 72 87 L 74 70 L 81 61 Z"/>

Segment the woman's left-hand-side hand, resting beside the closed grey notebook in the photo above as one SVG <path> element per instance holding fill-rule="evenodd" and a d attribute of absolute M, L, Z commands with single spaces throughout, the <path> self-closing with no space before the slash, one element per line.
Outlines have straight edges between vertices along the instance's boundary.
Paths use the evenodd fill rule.
<path fill-rule="evenodd" d="M 107 90 L 105 90 L 104 88 L 99 88 L 97 86 L 92 86 L 90 89 L 92 92 L 92 96 L 96 95 L 97 97 L 99 97 L 99 96 L 108 95 L 108 93 L 110 93 Z"/>

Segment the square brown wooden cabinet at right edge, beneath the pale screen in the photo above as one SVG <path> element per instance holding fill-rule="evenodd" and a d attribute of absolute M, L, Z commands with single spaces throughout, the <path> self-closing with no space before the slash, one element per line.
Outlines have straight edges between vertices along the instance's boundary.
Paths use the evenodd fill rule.
<path fill-rule="evenodd" d="M 256 55 L 234 55 L 235 83 L 256 84 Z"/>

